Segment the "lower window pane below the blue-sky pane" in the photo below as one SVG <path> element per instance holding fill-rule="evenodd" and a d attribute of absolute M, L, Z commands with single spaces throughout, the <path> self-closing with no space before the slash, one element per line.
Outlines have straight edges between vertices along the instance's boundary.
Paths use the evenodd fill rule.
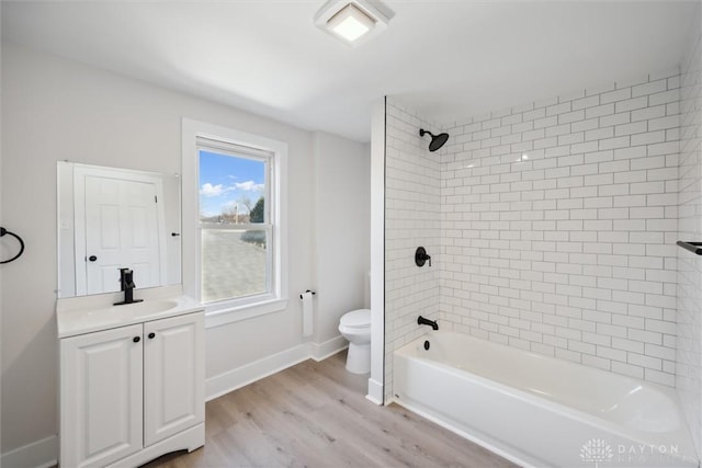
<path fill-rule="evenodd" d="M 202 301 L 267 293 L 265 230 L 202 229 Z"/>

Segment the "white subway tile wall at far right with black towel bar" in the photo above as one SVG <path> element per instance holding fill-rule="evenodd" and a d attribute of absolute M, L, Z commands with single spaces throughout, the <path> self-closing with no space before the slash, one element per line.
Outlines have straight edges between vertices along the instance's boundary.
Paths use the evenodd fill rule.
<path fill-rule="evenodd" d="M 700 12 L 698 12 L 700 16 Z M 680 89 L 679 239 L 702 241 L 702 32 L 700 21 L 682 66 Z M 702 256 L 678 250 L 676 388 L 698 453 L 702 448 Z"/>

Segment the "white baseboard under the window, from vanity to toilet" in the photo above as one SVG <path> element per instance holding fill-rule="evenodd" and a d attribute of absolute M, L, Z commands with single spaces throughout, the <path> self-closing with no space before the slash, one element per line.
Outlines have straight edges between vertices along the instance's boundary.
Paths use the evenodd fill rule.
<path fill-rule="evenodd" d="M 303 343 L 233 370 L 210 377 L 205 383 L 206 400 L 214 400 L 238 388 L 306 359 L 322 361 L 348 346 L 343 336 L 335 336 L 324 343 Z"/>

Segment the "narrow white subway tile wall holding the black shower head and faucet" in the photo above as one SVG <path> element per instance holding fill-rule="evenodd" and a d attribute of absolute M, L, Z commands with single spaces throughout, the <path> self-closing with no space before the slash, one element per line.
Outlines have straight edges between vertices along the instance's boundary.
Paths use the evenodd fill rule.
<path fill-rule="evenodd" d="M 389 101 L 389 100 L 388 100 Z M 434 124 L 399 105 L 386 106 L 385 148 L 385 400 L 393 398 L 393 352 L 426 330 L 417 317 L 437 319 L 441 243 L 439 157 L 430 157 Z M 415 264 L 415 250 L 424 247 L 432 266 Z"/>

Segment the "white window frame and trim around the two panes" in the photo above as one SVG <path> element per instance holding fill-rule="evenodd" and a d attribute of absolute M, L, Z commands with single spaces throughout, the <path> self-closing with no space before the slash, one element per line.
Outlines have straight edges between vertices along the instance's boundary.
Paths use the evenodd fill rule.
<path fill-rule="evenodd" d="M 202 145 L 203 140 L 214 145 Z M 222 144 L 218 149 L 224 153 L 231 153 L 231 148 L 239 147 L 242 157 L 269 155 L 269 173 L 267 183 L 270 183 L 265 212 L 270 224 L 272 246 L 268 254 L 270 264 L 269 281 L 272 283 L 270 292 L 253 296 L 244 296 L 233 299 L 224 299 L 203 304 L 205 308 L 206 327 L 216 327 L 284 310 L 287 307 L 287 206 L 286 206 L 286 180 L 287 180 L 287 144 L 259 135 L 249 134 L 233 128 L 227 128 L 205 122 L 190 118 L 182 119 L 182 193 L 183 193 L 183 290 L 202 301 L 201 284 L 201 253 L 202 253 L 202 224 L 200 220 L 200 150 L 217 151 L 216 144 Z M 228 149 L 228 151 L 227 151 Z M 246 151 L 246 149 L 250 151 Z M 231 156 L 237 156 L 231 155 Z M 212 226 L 212 225 L 211 225 Z M 239 229 L 249 225 L 225 225 L 216 229 Z M 263 230 L 263 226 L 250 225 L 253 229 Z"/>

